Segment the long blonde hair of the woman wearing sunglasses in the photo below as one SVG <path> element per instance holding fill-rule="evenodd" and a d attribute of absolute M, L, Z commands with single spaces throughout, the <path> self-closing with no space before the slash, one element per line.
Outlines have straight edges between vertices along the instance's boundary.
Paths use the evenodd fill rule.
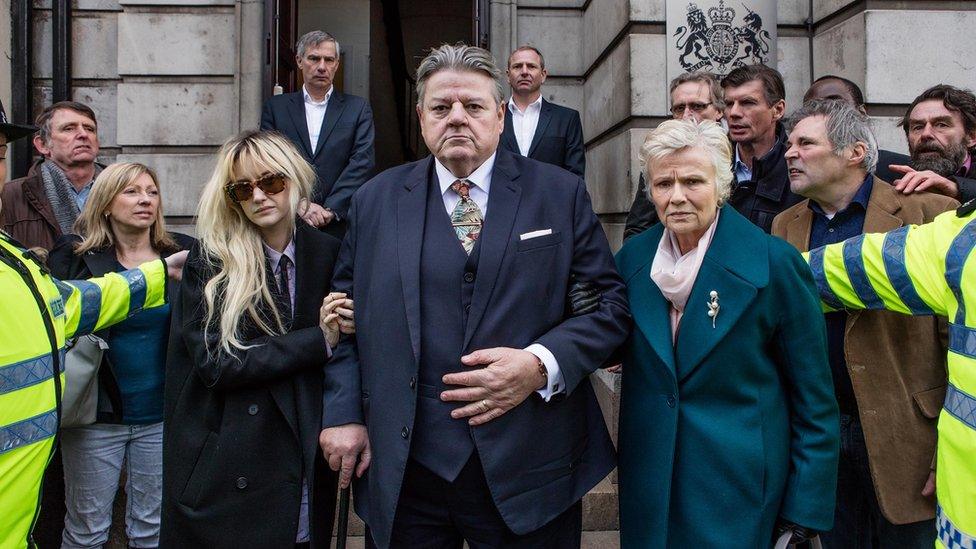
<path fill-rule="evenodd" d="M 244 132 L 224 143 L 217 153 L 217 166 L 203 188 L 197 210 L 200 255 L 216 273 L 204 287 L 203 329 L 204 333 L 218 333 L 221 349 L 231 355 L 235 349 L 249 347 L 241 341 L 242 321 L 252 322 L 268 335 L 285 333 L 268 290 L 261 235 L 225 190 L 228 183 L 240 179 L 245 166 L 288 179 L 292 229 L 298 204 L 308 200 L 315 181 L 312 167 L 277 132 Z M 270 317 L 262 310 L 270 311 Z"/>

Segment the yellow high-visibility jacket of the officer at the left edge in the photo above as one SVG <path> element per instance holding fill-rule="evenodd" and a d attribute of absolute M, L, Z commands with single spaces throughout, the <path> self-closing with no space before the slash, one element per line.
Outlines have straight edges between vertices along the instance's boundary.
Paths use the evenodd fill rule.
<path fill-rule="evenodd" d="M 0 232 L 0 549 L 32 545 L 60 422 L 65 338 L 162 305 L 165 296 L 163 261 L 60 282 Z"/>

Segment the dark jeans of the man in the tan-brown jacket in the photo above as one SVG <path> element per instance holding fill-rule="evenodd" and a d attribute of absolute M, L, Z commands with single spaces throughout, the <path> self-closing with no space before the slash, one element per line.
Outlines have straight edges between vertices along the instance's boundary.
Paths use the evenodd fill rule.
<path fill-rule="evenodd" d="M 922 487 L 911 487 L 921 491 Z M 820 536 L 828 549 L 931 549 L 935 519 L 892 524 L 881 514 L 871 481 L 868 450 L 861 421 L 840 416 L 840 464 L 834 529 Z"/>

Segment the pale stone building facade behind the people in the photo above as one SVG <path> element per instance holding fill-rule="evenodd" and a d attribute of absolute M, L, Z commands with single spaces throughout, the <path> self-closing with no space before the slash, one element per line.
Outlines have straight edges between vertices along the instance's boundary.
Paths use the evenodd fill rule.
<path fill-rule="evenodd" d="M 0 14 L 7 17 L 0 20 L 0 99 L 8 112 L 12 97 L 25 87 L 35 113 L 51 101 L 52 1 L 59 0 L 0 0 Z M 71 95 L 98 113 L 105 161 L 135 160 L 158 171 L 165 211 L 177 228 L 192 229 L 216 148 L 258 125 L 261 104 L 271 93 L 268 14 L 274 2 L 72 2 Z M 8 16 L 18 3 L 33 11 L 29 82 L 10 77 L 17 29 Z M 424 47 L 474 37 L 469 27 L 487 27 L 499 60 L 520 44 L 538 47 L 549 71 L 546 98 L 582 115 L 587 186 L 612 245 L 619 246 L 639 175 L 636 152 L 647 129 L 669 116 L 665 0 L 292 0 L 292 5 L 295 32 L 321 27 L 347 45 L 342 86 L 373 104 L 381 167 L 409 156 L 410 147 L 401 141 L 415 132 L 393 129 L 395 119 L 410 112 L 409 104 L 405 109 L 404 101 L 395 99 L 409 92 L 388 69 L 398 49 L 389 47 L 395 35 L 384 29 L 400 25 L 407 72 Z M 393 8 L 398 20 L 389 17 Z M 844 76 L 863 88 L 881 146 L 905 151 L 895 121 L 921 90 L 939 82 L 976 87 L 974 28 L 972 1 L 781 0 L 777 62 L 786 81 L 787 110 L 799 105 L 812 79 Z M 12 114 L 18 121 L 33 118 Z M 597 381 L 608 423 L 616 425 L 617 380 L 601 373 Z M 613 492 L 610 483 L 590 498 L 590 529 L 615 526 Z"/>

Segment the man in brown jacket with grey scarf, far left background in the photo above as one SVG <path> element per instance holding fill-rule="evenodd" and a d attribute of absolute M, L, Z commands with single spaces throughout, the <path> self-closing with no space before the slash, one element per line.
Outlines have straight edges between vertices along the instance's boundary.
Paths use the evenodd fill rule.
<path fill-rule="evenodd" d="M 50 250 L 70 233 L 98 175 L 98 124 L 83 103 L 55 103 L 37 117 L 34 147 L 43 158 L 2 194 L 3 229 L 30 248 Z"/>

